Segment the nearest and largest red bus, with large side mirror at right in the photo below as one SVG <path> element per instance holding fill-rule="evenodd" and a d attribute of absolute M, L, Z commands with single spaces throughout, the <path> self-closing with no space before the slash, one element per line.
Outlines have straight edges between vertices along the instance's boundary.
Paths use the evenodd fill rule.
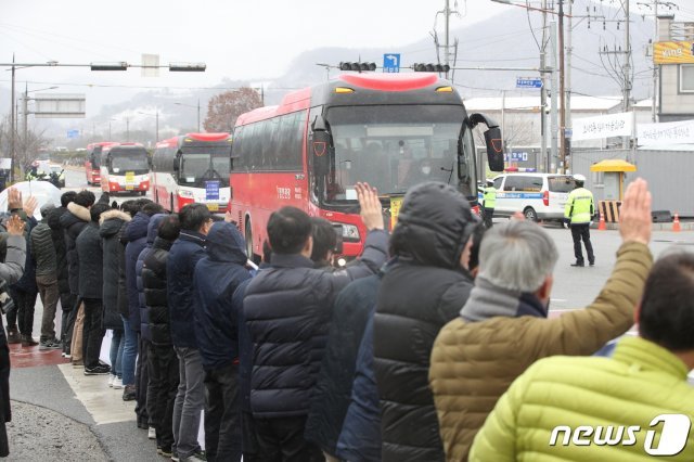
<path fill-rule="evenodd" d="M 378 189 L 391 224 L 407 190 L 422 181 L 452 184 L 477 206 L 478 123 L 488 127 L 489 166 L 501 171 L 499 127 L 468 115 L 452 84 L 435 74 L 343 75 L 241 115 L 230 207 L 248 256 L 258 259 L 270 214 L 284 205 L 342 224 L 344 256 L 360 255 L 367 231 L 358 181 Z"/>

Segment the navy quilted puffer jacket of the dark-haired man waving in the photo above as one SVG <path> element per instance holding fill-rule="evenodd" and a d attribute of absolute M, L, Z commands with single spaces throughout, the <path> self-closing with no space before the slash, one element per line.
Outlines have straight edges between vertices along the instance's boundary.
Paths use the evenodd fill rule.
<path fill-rule="evenodd" d="M 253 343 L 250 408 L 259 418 L 306 415 L 323 359 L 337 293 L 385 262 L 388 234 L 371 231 L 359 265 L 333 273 L 301 255 L 272 255 L 246 287 L 244 317 Z M 299 329 L 300 328 L 300 329 Z"/>

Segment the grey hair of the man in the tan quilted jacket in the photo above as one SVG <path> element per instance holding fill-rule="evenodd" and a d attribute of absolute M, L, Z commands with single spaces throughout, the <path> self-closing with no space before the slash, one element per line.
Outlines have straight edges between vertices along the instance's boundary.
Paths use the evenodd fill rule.
<path fill-rule="evenodd" d="M 510 220 L 485 233 L 479 249 L 479 275 L 511 291 L 535 292 L 554 271 L 558 252 L 537 223 Z"/>

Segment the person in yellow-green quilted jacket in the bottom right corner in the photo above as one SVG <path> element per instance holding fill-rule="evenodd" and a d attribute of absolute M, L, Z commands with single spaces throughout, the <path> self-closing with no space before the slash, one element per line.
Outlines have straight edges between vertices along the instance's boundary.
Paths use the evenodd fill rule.
<path fill-rule="evenodd" d="M 694 255 L 653 267 L 639 337 L 612 358 L 542 359 L 501 397 L 471 461 L 694 461 Z"/>

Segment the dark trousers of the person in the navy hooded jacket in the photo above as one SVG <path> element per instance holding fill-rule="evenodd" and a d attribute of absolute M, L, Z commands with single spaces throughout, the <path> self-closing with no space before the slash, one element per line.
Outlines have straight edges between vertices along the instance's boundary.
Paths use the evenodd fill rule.
<path fill-rule="evenodd" d="M 241 460 L 239 364 L 205 369 L 205 454 L 208 461 Z"/>

